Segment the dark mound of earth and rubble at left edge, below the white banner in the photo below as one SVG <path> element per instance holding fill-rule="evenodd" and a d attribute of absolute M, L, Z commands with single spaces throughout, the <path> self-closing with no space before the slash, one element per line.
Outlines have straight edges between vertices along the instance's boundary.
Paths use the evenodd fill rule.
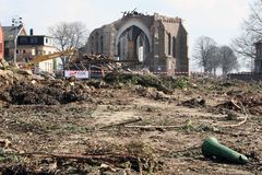
<path fill-rule="evenodd" d="M 0 101 L 16 105 L 58 105 L 91 100 L 85 83 L 35 79 L 35 75 L 5 71 L 0 77 Z"/>

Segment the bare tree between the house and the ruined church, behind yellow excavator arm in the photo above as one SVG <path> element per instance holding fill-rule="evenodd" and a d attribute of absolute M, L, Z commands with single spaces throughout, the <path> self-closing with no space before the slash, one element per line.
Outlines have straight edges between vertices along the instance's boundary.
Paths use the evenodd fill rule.
<path fill-rule="evenodd" d="M 78 49 L 86 44 L 87 30 L 82 22 L 61 22 L 48 28 L 53 37 L 53 45 L 59 51 Z M 62 66 L 69 61 L 69 57 L 61 57 Z"/>

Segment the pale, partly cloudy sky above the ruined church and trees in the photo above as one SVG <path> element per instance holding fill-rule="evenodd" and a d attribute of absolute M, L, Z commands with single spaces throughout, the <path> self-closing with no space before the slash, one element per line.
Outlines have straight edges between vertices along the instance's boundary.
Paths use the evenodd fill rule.
<path fill-rule="evenodd" d="M 26 31 L 47 34 L 58 22 L 81 21 L 90 31 L 122 16 L 121 11 L 179 16 L 188 31 L 189 56 L 202 35 L 219 45 L 229 45 L 239 34 L 254 0 L 0 0 L 0 22 L 11 25 L 14 16 L 23 18 Z"/>

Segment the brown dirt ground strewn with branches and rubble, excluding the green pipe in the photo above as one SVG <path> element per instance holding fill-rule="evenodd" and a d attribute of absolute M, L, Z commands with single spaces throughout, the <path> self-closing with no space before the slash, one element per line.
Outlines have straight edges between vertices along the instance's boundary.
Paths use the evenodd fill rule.
<path fill-rule="evenodd" d="M 262 174 L 261 82 L 0 79 L 0 174 Z M 209 136 L 249 163 L 204 158 Z"/>

